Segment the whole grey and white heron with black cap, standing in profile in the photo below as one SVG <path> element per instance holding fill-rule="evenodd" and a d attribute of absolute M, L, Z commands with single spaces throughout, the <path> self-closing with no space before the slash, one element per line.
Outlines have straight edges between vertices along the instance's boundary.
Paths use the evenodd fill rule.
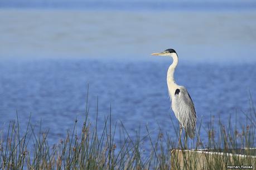
<path fill-rule="evenodd" d="M 173 62 L 167 71 L 167 86 L 169 95 L 171 97 L 172 110 L 180 122 L 180 139 L 178 144 L 181 144 L 182 128 L 185 129 L 185 143 L 187 145 L 187 135 L 192 139 L 195 137 L 196 128 L 196 111 L 194 103 L 187 92 L 187 89 L 183 86 L 176 84 L 174 80 L 175 68 L 178 64 L 178 55 L 174 49 L 166 49 L 161 53 L 153 53 L 153 56 L 167 56 L 172 57 Z"/>

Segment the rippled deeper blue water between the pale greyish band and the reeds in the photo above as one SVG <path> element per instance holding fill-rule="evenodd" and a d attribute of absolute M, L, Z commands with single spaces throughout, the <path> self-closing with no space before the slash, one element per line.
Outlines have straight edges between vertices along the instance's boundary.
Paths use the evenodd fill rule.
<path fill-rule="evenodd" d="M 158 129 L 175 137 L 171 123 L 178 122 L 170 109 L 166 71 L 171 59 L 155 62 L 117 62 L 91 59 L 41 59 L 38 61 L 0 62 L 0 125 L 7 128 L 16 118 L 25 130 L 32 114 L 32 124 L 42 121 L 50 129 L 50 142 L 66 136 L 78 118 L 85 118 L 89 84 L 90 119 L 95 121 L 99 97 L 99 129 L 112 106 L 112 121 L 124 123 L 130 135 L 146 134 L 146 125 L 156 137 Z M 195 104 L 197 119 L 207 127 L 210 116 L 228 124 L 229 116 L 244 124 L 249 113 L 249 93 L 255 103 L 255 63 L 191 64 L 180 63 L 176 82 L 185 86 Z M 171 117 L 170 117 L 171 116 Z M 202 131 L 202 139 L 207 136 Z M 117 135 L 118 136 L 118 135 Z"/>

